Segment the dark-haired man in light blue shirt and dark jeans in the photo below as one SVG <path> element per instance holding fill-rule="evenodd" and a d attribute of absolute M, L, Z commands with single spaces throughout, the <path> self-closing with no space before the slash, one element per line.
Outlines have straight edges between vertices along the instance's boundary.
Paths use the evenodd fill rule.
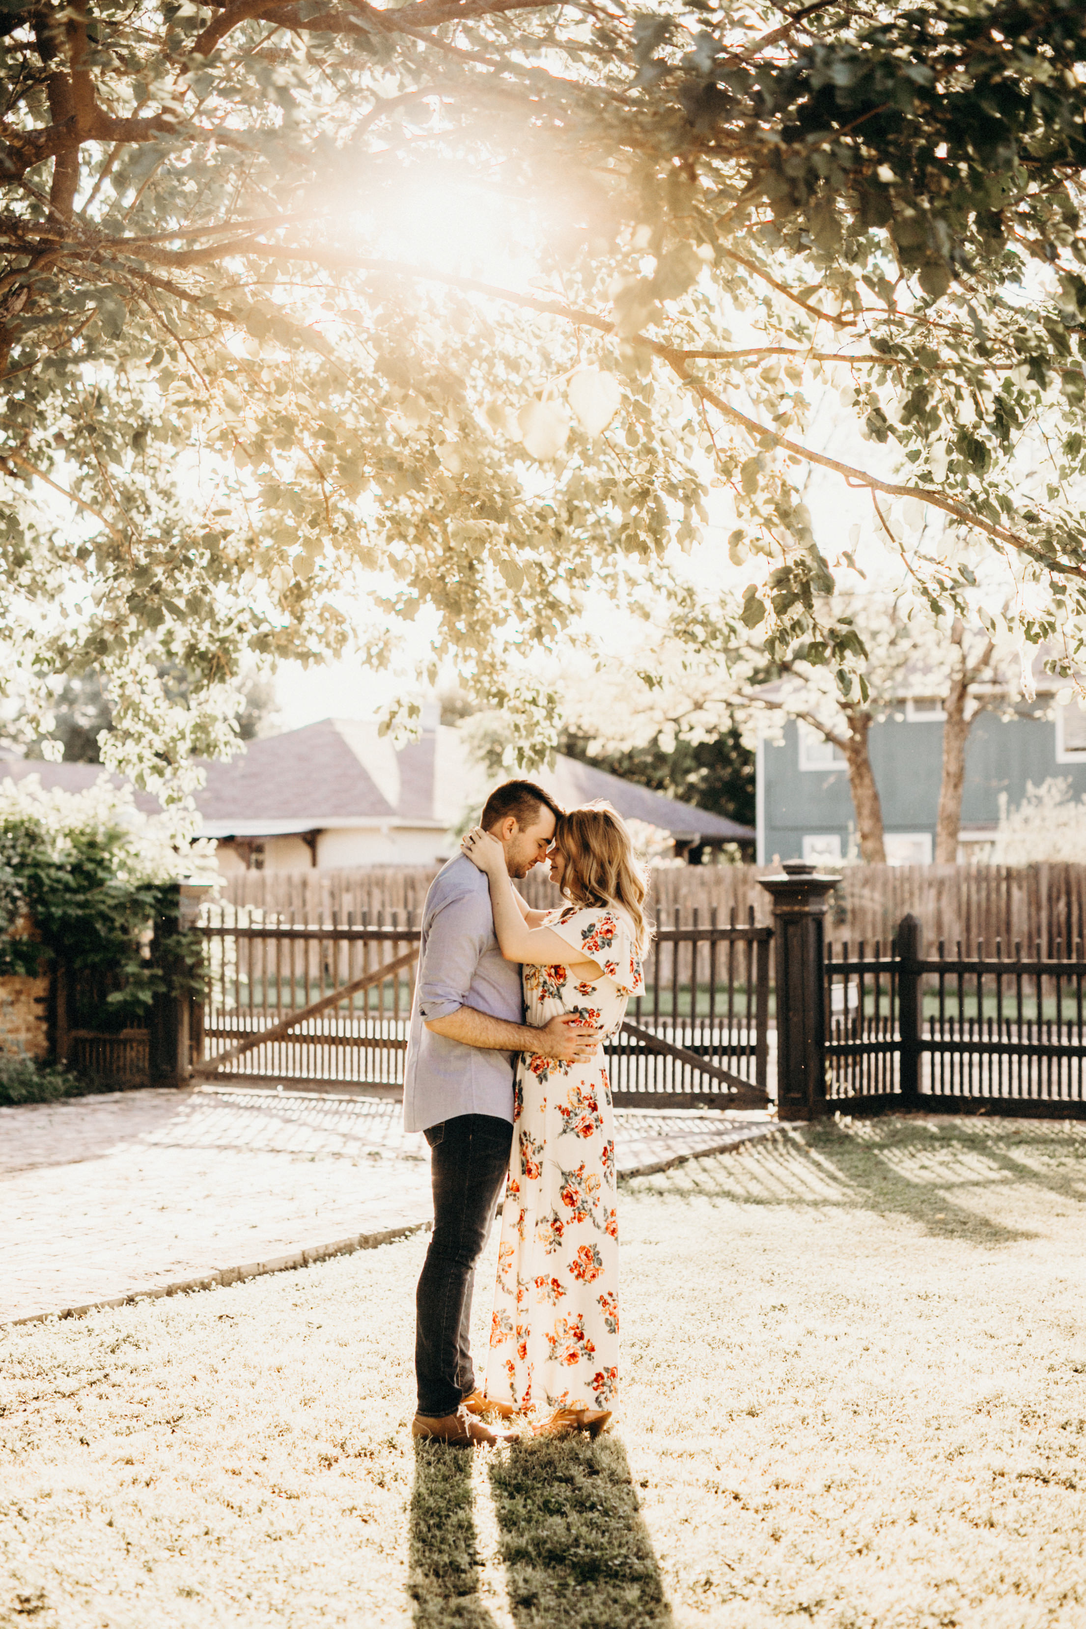
<path fill-rule="evenodd" d="M 501 842 L 510 876 L 526 876 L 545 858 L 560 813 L 531 780 L 490 793 L 480 824 Z M 521 969 L 498 950 L 487 878 L 458 855 L 435 878 L 422 915 L 404 1129 L 425 1132 L 433 1179 L 433 1233 L 415 1297 L 412 1435 L 459 1447 L 503 1440 L 464 1399 L 475 1390 L 475 1262 L 510 1165 L 515 1057 L 528 1051 L 575 1062 L 598 1049 L 599 1031 L 571 1013 L 544 1028 L 523 1020 Z"/>

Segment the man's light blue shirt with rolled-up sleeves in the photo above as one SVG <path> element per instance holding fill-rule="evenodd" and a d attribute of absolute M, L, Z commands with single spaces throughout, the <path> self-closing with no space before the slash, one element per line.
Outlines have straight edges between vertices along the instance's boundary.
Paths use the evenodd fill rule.
<path fill-rule="evenodd" d="M 513 1119 L 513 1054 L 464 1046 L 427 1030 L 427 1018 L 448 1018 L 461 1007 L 524 1023 L 521 969 L 498 950 L 490 885 L 464 855 L 435 876 L 422 912 L 404 1067 L 404 1131 L 425 1131 L 458 1114 Z"/>

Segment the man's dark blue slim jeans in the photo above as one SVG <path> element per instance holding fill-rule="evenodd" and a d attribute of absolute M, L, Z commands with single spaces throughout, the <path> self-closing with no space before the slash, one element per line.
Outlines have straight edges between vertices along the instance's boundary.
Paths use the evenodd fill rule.
<path fill-rule="evenodd" d="M 433 1233 L 415 1293 L 418 1412 L 456 1414 L 475 1388 L 471 1297 L 475 1262 L 510 1168 L 513 1127 L 493 1114 L 458 1114 L 425 1132 Z"/>

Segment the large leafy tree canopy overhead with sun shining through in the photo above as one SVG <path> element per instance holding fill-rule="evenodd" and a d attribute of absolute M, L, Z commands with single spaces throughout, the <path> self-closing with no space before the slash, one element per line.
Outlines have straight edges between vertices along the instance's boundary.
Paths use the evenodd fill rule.
<path fill-rule="evenodd" d="M 1083 609 L 1071 0 L 3 16 L 8 671 L 99 668 L 117 767 L 164 787 L 228 751 L 246 661 L 340 648 L 357 570 L 373 660 L 428 606 L 435 663 L 545 751 L 519 656 L 624 562 L 655 585 L 712 482 L 747 627 L 863 699 L 863 642 L 819 619 L 811 464 L 1013 559 L 1027 639 Z M 500 197 L 519 259 L 440 264 L 449 192 Z M 806 437 L 827 370 L 858 461 Z M 948 611 L 967 585 L 925 567 Z"/>

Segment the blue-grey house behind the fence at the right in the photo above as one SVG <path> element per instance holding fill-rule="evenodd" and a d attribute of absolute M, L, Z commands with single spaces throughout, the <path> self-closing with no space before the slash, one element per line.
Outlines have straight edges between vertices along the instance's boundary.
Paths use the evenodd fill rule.
<path fill-rule="evenodd" d="M 925 865 L 935 852 L 943 771 L 943 714 L 917 697 L 871 727 L 871 767 L 882 800 L 891 865 Z M 982 712 L 969 733 L 959 860 L 983 860 L 1000 819 L 1000 797 L 1013 808 L 1027 782 L 1050 775 L 1086 793 L 1086 710 L 1037 699 L 1013 718 Z M 837 863 L 855 850 L 856 823 L 843 756 L 809 727 L 788 720 L 782 740 L 757 748 L 757 857 L 769 865 L 801 858 Z"/>

